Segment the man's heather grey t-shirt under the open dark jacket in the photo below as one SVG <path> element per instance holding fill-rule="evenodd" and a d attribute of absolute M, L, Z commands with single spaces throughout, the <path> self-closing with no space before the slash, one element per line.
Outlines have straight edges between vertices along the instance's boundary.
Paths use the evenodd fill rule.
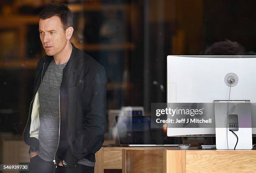
<path fill-rule="evenodd" d="M 62 81 L 62 72 L 65 64 L 57 65 L 54 59 L 45 72 L 44 79 L 38 90 L 40 103 L 40 127 L 38 156 L 46 161 L 53 161 L 59 141 L 59 91 Z M 95 166 L 85 158 L 77 163 Z"/>

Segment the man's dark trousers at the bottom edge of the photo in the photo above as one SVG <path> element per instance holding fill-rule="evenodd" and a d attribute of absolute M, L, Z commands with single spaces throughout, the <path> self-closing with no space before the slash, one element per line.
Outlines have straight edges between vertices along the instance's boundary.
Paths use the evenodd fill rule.
<path fill-rule="evenodd" d="M 56 166 L 53 162 L 47 162 L 38 155 L 30 158 L 29 173 L 94 173 L 94 167 L 77 164 L 76 167 Z"/>

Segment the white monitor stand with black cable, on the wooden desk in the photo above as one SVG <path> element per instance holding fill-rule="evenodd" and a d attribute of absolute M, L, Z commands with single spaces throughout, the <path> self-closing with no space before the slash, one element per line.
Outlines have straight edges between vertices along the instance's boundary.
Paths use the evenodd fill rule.
<path fill-rule="evenodd" d="M 250 100 L 214 100 L 214 112 L 216 148 L 220 150 L 251 150 Z"/>

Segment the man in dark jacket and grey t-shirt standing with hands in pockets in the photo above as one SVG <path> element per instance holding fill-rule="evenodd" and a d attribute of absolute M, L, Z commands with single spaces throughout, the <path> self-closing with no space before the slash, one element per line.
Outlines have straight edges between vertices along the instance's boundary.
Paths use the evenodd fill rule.
<path fill-rule="evenodd" d="M 70 38 L 73 14 L 61 3 L 39 14 L 46 52 L 38 62 L 33 99 L 23 132 L 30 146 L 29 170 L 36 173 L 93 173 L 106 126 L 104 68 Z"/>

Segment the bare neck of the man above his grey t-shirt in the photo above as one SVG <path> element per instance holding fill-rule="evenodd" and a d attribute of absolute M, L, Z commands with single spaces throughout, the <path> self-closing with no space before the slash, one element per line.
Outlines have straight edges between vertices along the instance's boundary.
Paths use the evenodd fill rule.
<path fill-rule="evenodd" d="M 54 55 L 55 64 L 59 65 L 59 64 L 67 63 L 67 61 L 69 61 L 71 53 L 72 53 L 72 44 L 69 42 L 64 47 L 63 51 L 61 51 L 61 53 Z"/>

